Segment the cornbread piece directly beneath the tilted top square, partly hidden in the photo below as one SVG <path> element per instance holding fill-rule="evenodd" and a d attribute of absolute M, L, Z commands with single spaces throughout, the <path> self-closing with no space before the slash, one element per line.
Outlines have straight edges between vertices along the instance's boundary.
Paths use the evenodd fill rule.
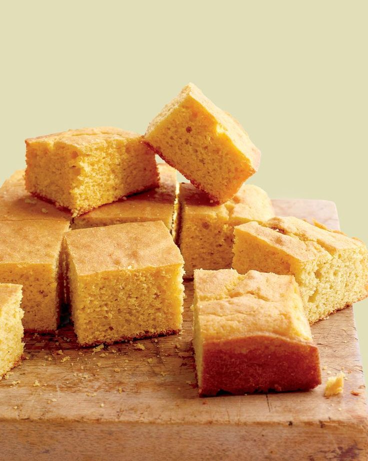
<path fill-rule="evenodd" d="M 192 184 L 181 183 L 178 201 L 176 240 L 185 278 L 192 278 L 194 269 L 230 268 L 234 226 L 274 216 L 266 192 L 249 184 L 243 184 L 227 202 L 214 205 Z"/>

